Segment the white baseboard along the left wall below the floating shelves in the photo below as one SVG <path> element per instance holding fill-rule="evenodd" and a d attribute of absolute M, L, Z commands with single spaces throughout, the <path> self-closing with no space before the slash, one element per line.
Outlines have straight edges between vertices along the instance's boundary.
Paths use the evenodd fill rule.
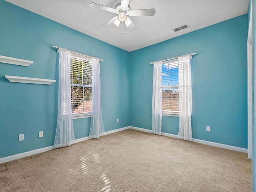
<path fill-rule="evenodd" d="M 130 126 L 124 127 L 124 128 L 115 129 L 115 130 L 112 130 L 112 131 L 107 131 L 107 132 L 104 132 L 104 134 L 102 134 L 102 136 L 103 135 L 112 134 L 112 133 L 116 133 L 116 132 L 119 132 L 119 131 L 123 131 L 123 130 L 129 129 L 129 128 L 130 128 Z M 91 139 L 91 138 L 84 137 L 84 138 L 76 139 L 76 140 L 74 140 L 73 144 L 79 143 L 79 142 L 82 142 L 82 141 L 86 141 L 86 140 L 89 140 L 89 139 Z M 6 163 L 6 162 L 9 162 L 9 161 L 13 161 L 13 160 L 16 160 L 16 159 L 24 158 L 24 157 L 27 157 L 27 156 L 35 155 L 35 154 L 38 154 L 38 153 L 50 151 L 50 150 L 53 150 L 53 149 L 56 149 L 56 147 L 49 146 L 49 147 L 45 147 L 45 148 L 40 148 L 40 149 L 36 149 L 36 150 L 24 152 L 24 153 L 12 155 L 12 156 L 0 158 L 0 164 Z"/>

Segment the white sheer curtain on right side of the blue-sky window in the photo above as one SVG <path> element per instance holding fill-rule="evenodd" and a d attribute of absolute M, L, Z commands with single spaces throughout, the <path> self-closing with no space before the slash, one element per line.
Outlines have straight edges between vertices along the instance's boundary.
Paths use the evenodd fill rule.
<path fill-rule="evenodd" d="M 191 54 L 178 57 L 178 83 L 180 122 L 178 136 L 184 140 L 192 140 L 191 112 L 192 112 L 192 88 L 191 88 Z"/>

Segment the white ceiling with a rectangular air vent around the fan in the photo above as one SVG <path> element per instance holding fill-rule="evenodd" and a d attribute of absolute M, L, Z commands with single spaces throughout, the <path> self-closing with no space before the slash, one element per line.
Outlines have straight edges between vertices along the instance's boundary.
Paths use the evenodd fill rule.
<path fill-rule="evenodd" d="M 6 1 L 129 52 L 246 14 L 249 4 L 249 0 L 130 0 L 131 10 L 156 10 L 154 16 L 130 16 L 137 27 L 131 32 L 122 24 L 103 28 L 116 14 L 90 7 L 95 2 L 115 8 L 120 0 Z M 172 30 L 186 23 L 190 28 Z"/>

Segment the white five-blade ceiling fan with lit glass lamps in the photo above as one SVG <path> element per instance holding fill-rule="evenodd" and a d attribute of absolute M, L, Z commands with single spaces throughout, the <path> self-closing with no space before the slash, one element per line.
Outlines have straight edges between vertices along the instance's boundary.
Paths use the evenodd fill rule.
<path fill-rule="evenodd" d="M 91 3 L 90 6 L 98 9 L 102 9 L 105 11 L 109 11 L 117 14 L 118 16 L 113 17 L 108 22 L 106 22 L 102 27 L 108 27 L 112 23 L 119 27 L 121 21 L 125 23 L 126 27 L 128 27 L 131 31 L 136 31 L 137 28 L 133 24 L 132 20 L 128 16 L 154 16 L 156 13 L 155 9 L 138 9 L 138 10 L 130 10 L 129 6 L 130 0 L 121 0 L 121 4 L 118 4 L 116 8 L 107 7 L 104 5 L 100 5 L 97 3 Z"/>

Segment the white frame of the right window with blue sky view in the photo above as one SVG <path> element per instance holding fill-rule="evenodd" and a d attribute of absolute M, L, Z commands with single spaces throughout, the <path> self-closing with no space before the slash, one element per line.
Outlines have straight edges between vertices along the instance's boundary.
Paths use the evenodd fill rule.
<path fill-rule="evenodd" d="M 171 63 L 177 63 L 178 64 L 178 58 L 174 58 L 172 60 L 163 61 L 162 65 L 164 65 L 164 64 L 171 64 Z M 178 79 L 179 79 L 179 67 L 178 67 Z M 175 85 L 175 86 L 162 86 L 162 82 L 163 82 L 163 79 L 162 79 L 162 66 L 161 66 L 161 85 L 160 85 L 161 92 L 162 92 L 162 88 L 166 88 L 166 89 L 178 88 L 178 90 L 180 88 L 179 85 Z M 179 97 L 178 97 L 178 101 L 179 101 Z M 162 115 L 163 116 L 179 117 L 180 116 L 180 110 L 178 110 L 178 111 L 162 110 Z"/>

